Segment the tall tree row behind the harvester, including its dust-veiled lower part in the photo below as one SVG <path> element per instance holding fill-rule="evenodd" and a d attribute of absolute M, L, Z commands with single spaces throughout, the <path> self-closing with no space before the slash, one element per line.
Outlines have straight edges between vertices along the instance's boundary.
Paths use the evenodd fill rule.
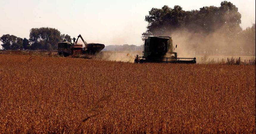
<path fill-rule="evenodd" d="M 222 1 L 220 7 L 205 6 L 191 11 L 185 11 L 178 5 L 174 8 L 166 5 L 160 9 L 152 8 L 145 21 L 148 25 L 142 40 L 148 36 L 178 36 L 184 37 L 182 41 L 186 41 L 190 50 L 255 55 L 255 22 L 251 27 L 242 29 L 241 14 L 228 1 Z"/>

